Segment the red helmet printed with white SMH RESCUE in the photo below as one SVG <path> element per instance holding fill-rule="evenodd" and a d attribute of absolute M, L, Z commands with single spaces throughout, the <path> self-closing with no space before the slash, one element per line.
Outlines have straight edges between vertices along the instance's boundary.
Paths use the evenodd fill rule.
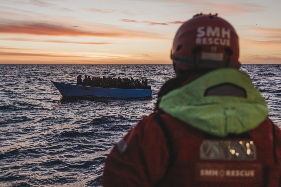
<path fill-rule="evenodd" d="M 187 69 L 239 69 L 238 36 L 234 28 L 216 15 L 197 14 L 177 31 L 171 58 L 174 65 Z"/>

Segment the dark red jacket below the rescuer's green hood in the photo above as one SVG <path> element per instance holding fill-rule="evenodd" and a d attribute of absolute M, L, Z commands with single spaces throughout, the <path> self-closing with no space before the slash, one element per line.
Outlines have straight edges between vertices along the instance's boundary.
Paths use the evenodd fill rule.
<path fill-rule="evenodd" d="M 155 115 L 151 114 L 143 118 L 112 149 L 104 167 L 103 186 L 279 185 L 281 131 L 268 118 L 256 129 L 249 131 L 249 137 L 222 139 L 208 137 L 204 132 L 167 114 L 161 117 L 170 132 L 172 153 L 169 153 L 167 135 L 164 135 Z M 253 141 L 256 145 L 256 159 L 200 159 L 199 149 L 203 140 L 214 139 Z M 171 154 L 174 157 L 172 161 L 169 160 Z"/>

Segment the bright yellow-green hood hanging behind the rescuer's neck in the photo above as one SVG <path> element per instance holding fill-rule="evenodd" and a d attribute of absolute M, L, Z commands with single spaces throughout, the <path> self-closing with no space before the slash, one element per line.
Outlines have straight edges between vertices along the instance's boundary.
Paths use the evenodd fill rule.
<path fill-rule="evenodd" d="M 247 98 L 204 96 L 208 88 L 223 83 L 243 88 Z M 168 92 L 161 98 L 159 108 L 197 129 L 221 137 L 254 129 L 268 115 L 267 104 L 248 75 L 231 68 L 211 71 Z"/>

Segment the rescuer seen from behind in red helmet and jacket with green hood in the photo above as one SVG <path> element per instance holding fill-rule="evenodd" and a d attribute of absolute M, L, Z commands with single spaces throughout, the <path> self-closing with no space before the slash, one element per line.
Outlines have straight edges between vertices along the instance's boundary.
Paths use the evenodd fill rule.
<path fill-rule="evenodd" d="M 103 186 L 279 186 L 281 131 L 239 71 L 238 36 L 217 15 L 177 31 L 177 77 L 108 155 Z"/>

